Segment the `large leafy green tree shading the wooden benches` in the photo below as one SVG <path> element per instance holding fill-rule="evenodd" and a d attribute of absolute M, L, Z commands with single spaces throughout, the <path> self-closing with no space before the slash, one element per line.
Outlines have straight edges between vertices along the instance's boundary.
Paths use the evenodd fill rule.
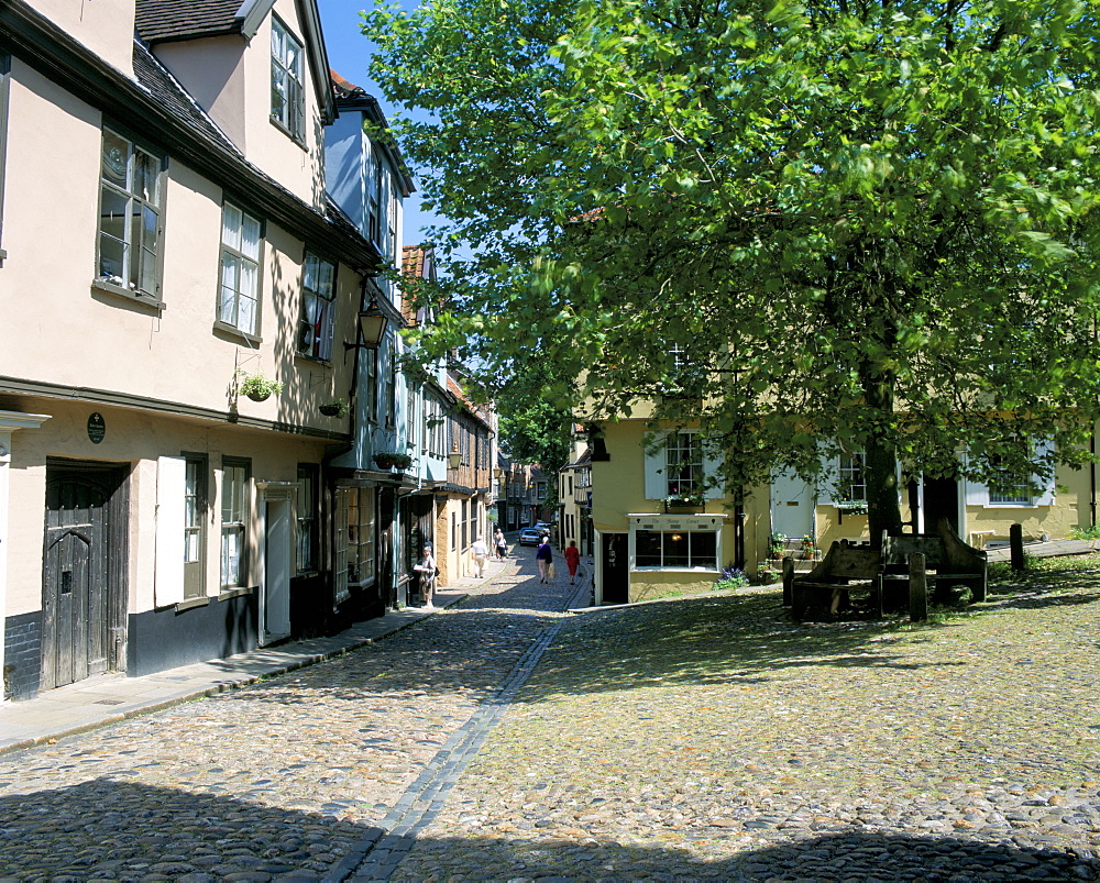
<path fill-rule="evenodd" d="M 726 477 L 1080 463 L 1100 396 L 1100 24 L 1070 0 L 437 0 L 366 33 L 464 242 L 436 340 L 641 399 Z M 469 343 L 464 343 L 469 341 Z M 1045 449 L 1044 449 L 1045 450 Z M 959 452 L 966 456 L 960 459 Z"/>

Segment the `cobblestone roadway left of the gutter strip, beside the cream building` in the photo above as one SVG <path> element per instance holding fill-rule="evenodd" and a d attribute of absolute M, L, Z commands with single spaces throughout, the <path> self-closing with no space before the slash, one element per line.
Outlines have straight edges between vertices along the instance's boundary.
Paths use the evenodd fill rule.
<path fill-rule="evenodd" d="M 565 617 L 532 559 L 336 660 L 0 755 L 0 880 L 331 874 Z"/>

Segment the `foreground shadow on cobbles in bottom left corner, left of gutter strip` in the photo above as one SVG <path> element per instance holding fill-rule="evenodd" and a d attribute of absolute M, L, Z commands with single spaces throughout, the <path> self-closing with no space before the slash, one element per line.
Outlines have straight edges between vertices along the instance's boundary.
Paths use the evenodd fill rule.
<path fill-rule="evenodd" d="M 318 879 L 366 830 L 117 779 L 0 798 L 0 875 L 21 881 Z"/>

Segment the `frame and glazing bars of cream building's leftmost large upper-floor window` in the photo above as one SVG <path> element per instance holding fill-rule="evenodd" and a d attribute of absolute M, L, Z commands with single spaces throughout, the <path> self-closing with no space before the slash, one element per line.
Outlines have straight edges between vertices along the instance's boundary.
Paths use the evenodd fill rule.
<path fill-rule="evenodd" d="M 124 142 L 127 145 L 125 170 L 122 173 L 123 183 L 112 180 L 107 175 L 106 152 L 109 137 Z M 136 183 L 136 155 L 143 154 L 150 159 L 150 167 L 154 169 L 154 198 L 150 199 L 140 192 Z M 167 170 L 168 156 L 165 153 L 153 150 L 147 142 L 131 135 L 123 126 L 112 125 L 105 122 L 100 129 L 99 150 L 99 191 L 97 196 L 97 219 L 96 219 L 96 264 L 92 274 L 92 285 L 105 291 L 120 295 L 139 303 L 162 309 L 164 307 L 162 290 L 164 287 L 164 230 L 165 230 L 165 203 L 167 201 Z M 122 216 L 122 238 L 107 232 L 103 228 L 105 220 L 105 192 L 116 198 L 121 198 L 125 202 L 125 211 Z M 155 219 L 156 232 L 154 234 L 154 249 L 152 255 L 145 247 L 145 243 L 133 242 L 133 225 L 135 206 L 139 214 L 145 216 L 148 211 Z M 113 217 L 113 216 L 112 216 Z M 121 275 L 103 272 L 103 239 L 109 238 L 122 245 Z M 138 266 L 134 267 L 134 254 L 138 255 Z M 152 266 L 150 266 L 152 265 Z M 136 277 L 134 273 L 136 272 Z M 152 290 L 141 285 L 145 273 L 151 276 Z"/>

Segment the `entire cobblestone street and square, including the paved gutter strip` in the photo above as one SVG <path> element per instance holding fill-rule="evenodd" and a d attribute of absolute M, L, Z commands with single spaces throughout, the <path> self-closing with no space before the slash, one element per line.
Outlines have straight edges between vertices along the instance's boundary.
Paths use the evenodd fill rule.
<path fill-rule="evenodd" d="M 0 879 L 1100 875 L 1098 574 L 910 630 L 777 590 L 563 614 L 520 555 L 363 650 L 0 755 Z"/>

